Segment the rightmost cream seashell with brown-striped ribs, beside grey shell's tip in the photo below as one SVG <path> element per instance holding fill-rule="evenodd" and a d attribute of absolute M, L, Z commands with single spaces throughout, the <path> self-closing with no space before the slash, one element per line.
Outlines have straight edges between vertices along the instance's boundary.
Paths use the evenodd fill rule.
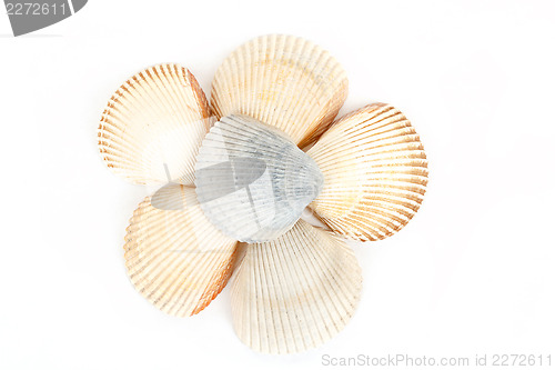
<path fill-rule="evenodd" d="M 426 154 L 411 122 L 392 106 L 370 104 L 343 117 L 307 153 L 325 179 L 310 207 L 350 239 L 386 238 L 422 203 Z"/>

